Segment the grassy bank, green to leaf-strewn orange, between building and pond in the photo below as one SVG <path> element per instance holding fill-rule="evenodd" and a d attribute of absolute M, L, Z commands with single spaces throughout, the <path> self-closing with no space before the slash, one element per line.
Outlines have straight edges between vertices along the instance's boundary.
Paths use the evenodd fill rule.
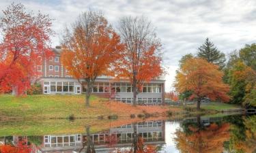
<path fill-rule="evenodd" d="M 162 114 L 167 111 L 179 112 L 182 109 L 161 106 L 137 106 L 120 102 L 108 102 L 106 99 L 91 96 L 91 106 L 85 107 L 84 95 L 27 95 L 14 97 L 0 95 L 0 119 L 51 119 L 68 118 L 98 118 L 116 114 L 119 117 L 129 117 L 131 114 Z"/>

